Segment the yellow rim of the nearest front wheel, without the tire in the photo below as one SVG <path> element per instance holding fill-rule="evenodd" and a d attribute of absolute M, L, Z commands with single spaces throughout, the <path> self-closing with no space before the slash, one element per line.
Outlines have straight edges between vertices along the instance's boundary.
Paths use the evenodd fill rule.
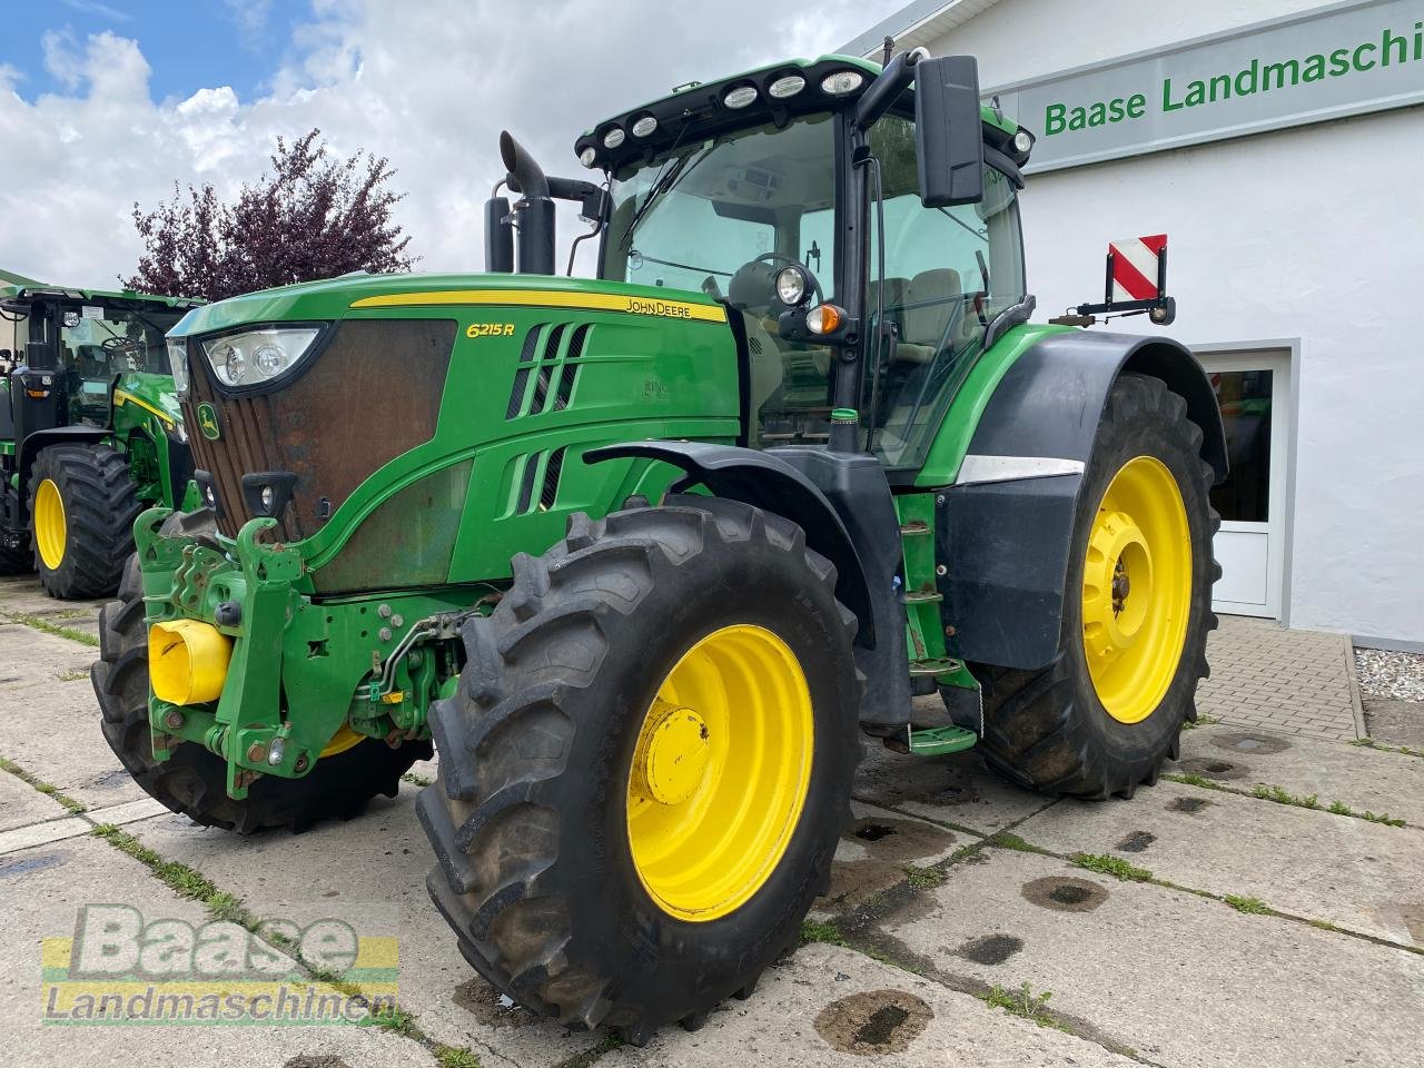
<path fill-rule="evenodd" d="M 628 776 L 628 844 L 644 889 L 679 920 L 745 904 L 776 870 L 812 769 L 810 689 L 762 627 L 688 649 L 644 716 Z"/>

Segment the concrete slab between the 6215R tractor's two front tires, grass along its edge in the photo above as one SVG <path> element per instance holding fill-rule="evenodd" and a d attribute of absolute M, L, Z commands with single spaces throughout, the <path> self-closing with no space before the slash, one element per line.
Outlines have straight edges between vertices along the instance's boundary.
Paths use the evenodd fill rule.
<path fill-rule="evenodd" d="M 524 1010 L 501 1007 L 494 988 L 460 956 L 426 893 L 433 854 L 416 819 L 417 793 L 403 783 L 397 799 L 377 799 L 359 819 L 322 823 L 296 836 L 242 839 L 179 816 L 127 830 L 165 860 L 198 869 L 265 918 L 305 924 L 335 917 L 363 936 L 396 937 L 402 1005 L 426 1034 L 471 1047 L 486 1068 L 551 1065 L 595 1045 L 600 1035 L 570 1034 Z"/>

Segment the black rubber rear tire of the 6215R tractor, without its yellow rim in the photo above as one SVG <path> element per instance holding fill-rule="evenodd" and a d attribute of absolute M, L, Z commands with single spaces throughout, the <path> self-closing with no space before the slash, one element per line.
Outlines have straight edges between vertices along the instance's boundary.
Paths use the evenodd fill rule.
<path fill-rule="evenodd" d="M 1182 723 L 1196 719 L 1196 685 L 1209 674 L 1206 635 L 1216 627 L 1212 535 L 1220 520 L 1208 491 L 1213 473 L 1200 459 L 1202 430 L 1186 417 L 1186 402 L 1161 379 L 1122 375 L 1098 427 L 1084 473 L 1064 594 L 1058 654 L 1041 671 L 970 665 L 984 689 L 981 750 L 1021 786 L 1054 796 L 1131 797 L 1156 782 L 1162 760 L 1176 758 Z M 1189 530 L 1188 621 L 1166 691 L 1134 722 L 1108 712 L 1088 665 L 1084 574 L 1099 503 L 1115 476 L 1135 457 L 1158 460 L 1176 483 Z M 1159 577 L 1162 578 L 1162 577 Z M 1128 594 L 1131 597 L 1131 594 Z"/>

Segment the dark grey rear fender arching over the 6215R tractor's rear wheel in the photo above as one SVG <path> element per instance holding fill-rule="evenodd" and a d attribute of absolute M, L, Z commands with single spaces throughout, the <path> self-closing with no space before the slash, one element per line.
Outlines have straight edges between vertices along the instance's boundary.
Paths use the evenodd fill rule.
<path fill-rule="evenodd" d="M 1185 346 L 1159 337 L 1054 333 L 1028 349 L 990 399 L 954 486 L 940 493 L 940 580 L 951 655 L 1035 669 L 1059 645 L 1082 473 L 1112 383 L 1162 379 L 1202 430 L 1200 456 L 1226 474 L 1210 382 Z"/>

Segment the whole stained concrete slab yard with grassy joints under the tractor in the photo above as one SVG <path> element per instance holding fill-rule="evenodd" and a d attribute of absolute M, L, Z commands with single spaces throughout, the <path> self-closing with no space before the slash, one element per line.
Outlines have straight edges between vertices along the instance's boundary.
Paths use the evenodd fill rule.
<path fill-rule="evenodd" d="M 81 676 L 93 649 L 74 637 L 93 634 L 91 612 L 61 611 L 80 614 L 0 581 L 0 1064 L 1424 1065 L 1421 758 L 1267 732 L 1219 691 L 1209 708 L 1227 722 L 1185 733 L 1182 760 L 1131 802 L 1048 802 L 973 752 L 867 750 L 807 944 L 703 1030 L 619 1048 L 503 1005 L 473 977 L 426 899 L 417 785 L 295 837 L 157 812 L 97 731 Z M 100 903 L 263 933 L 339 917 L 397 940 L 409 1015 L 41 1022 L 43 983 L 83 957 L 56 940 Z M 332 993 L 328 978 L 308 971 L 305 985 Z"/>

